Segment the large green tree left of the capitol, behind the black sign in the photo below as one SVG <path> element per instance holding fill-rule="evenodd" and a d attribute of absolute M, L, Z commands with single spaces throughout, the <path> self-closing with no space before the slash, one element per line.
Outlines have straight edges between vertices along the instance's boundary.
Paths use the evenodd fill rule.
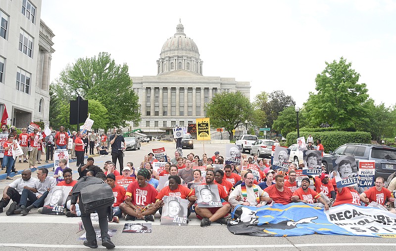
<path fill-rule="evenodd" d="M 58 90 L 59 98 L 74 100 L 79 94 L 83 99 L 99 101 L 107 109 L 103 129 L 140 121 L 138 96 L 132 89 L 128 66 L 117 65 L 106 52 L 67 65 L 56 84 L 63 88 Z"/>

